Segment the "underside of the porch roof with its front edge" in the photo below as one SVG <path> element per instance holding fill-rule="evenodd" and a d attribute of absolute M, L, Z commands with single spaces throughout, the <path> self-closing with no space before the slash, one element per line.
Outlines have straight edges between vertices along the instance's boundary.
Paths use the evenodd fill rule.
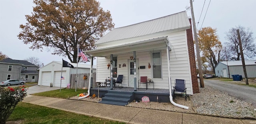
<path fill-rule="evenodd" d="M 136 43 L 118 45 L 114 47 L 88 50 L 85 52 L 86 54 L 91 54 L 92 56 L 106 57 L 106 56 L 110 56 L 110 54 L 121 54 L 121 53 L 150 50 L 150 49 L 166 49 L 166 47 L 170 47 L 170 42 L 168 40 L 168 37 L 160 37 L 160 38 L 149 39 L 145 41 L 139 41 Z"/>

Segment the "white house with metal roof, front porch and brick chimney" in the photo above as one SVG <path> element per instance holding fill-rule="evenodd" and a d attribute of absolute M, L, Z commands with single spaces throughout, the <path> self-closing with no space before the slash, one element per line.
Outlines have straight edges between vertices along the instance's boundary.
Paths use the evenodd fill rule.
<path fill-rule="evenodd" d="M 185 11 L 115 28 L 94 45 L 95 50 L 85 52 L 97 57 L 97 82 L 111 77 L 112 69 L 114 79 L 124 75 L 122 86 L 134 91 L 140 76 L 147 76 L 154 81 L 148 88 L 169 89 L 169 82 L 173 87 L 175 79 L 185 79 L 187 94 L 199 92 L 191 19 Z"/>

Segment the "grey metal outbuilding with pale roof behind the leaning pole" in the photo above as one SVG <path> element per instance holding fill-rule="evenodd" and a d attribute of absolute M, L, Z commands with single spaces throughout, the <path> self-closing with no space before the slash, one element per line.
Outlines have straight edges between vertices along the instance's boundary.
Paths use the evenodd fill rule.
<path fill-rule="evenodd" d="M 244 60 L 247 77 L 256 77 L 256 60 Z M 242 60 L 241 61 L 223 61 L 219 62 L 215 67 L 215 75 L 218 77 L 230 77 L 232 75 L 238 74 L 242 77 L 244 76 L 244 69 Z"/>

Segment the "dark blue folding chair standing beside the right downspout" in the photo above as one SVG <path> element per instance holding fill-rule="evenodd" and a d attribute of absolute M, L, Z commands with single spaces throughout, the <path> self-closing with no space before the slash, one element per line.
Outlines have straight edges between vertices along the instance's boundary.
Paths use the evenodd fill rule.
<path fill-rule="evenodd" d="M 187 101 L 187 88 L 186 88 L 186 81 L 184 79 L 175 79 L 175 87 L 173 93 L 173 99 L 175 99 L 175 95 L 185 95 Z"/>

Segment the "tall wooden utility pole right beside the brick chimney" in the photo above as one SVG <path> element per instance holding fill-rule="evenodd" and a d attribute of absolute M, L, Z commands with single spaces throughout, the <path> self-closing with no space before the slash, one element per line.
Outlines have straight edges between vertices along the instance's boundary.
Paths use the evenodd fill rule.
<path fill-rule="evenodd" d="M 197 57 L 197 65 L 199 70 L 200 87 L 204 88 L 204 78 L 203 78 L 202 65 L 201 65 L 202 62 L 200 58 L 200 51 L 199 51 L 199 45 L 198 45 L 198 39 L 197 39 L 197 33 L 196 33 L 196 23 L 195 23 L 192 0 L 190 0 L 190 8 L 191 8 L 191 15 L 192 15 L 192 22 L 193 22 L 193 29 L 194 29 L 194 39 L 196 43 L 196 57 Z"/>

